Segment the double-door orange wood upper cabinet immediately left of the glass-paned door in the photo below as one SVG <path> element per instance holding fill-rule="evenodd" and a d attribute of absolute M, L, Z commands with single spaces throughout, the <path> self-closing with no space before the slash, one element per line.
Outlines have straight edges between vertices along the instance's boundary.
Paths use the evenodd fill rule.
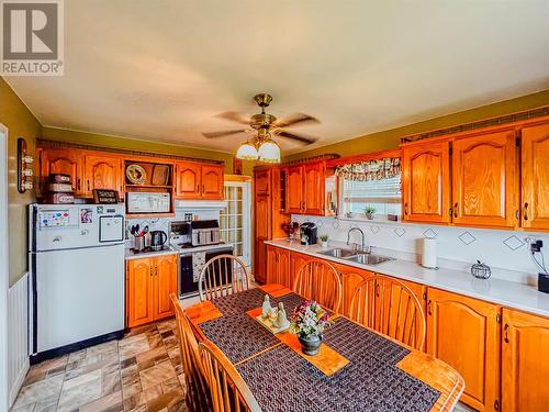
<path fill-rule="evenodd" d="M 223 199 L 223 166 L 194 162 L 176 164 L 176 198 Z"/>

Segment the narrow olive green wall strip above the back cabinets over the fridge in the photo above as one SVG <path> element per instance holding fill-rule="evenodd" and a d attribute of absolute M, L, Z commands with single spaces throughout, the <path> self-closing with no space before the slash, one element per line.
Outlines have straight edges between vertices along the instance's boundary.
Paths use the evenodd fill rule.
<path fill-rule="evenodd" d="M 183 145 L 155 143 L 138 138 L 111 136 L 98 133 L 79 132 L 67 129 L 44 126 L 42 129 L 43 138 L 66 143 L 79 143 L 109 148 L 120 148 L 127 151 L 138 151 L 147 153 L 169 154 L 176 156 L 188 156 L 211 160 L 225 162 L 225 172 L 233 172 L 233 155 L 229 153 L 214 152 L 202 148 L 187 147 Z M 251 175 L 253 165 L 244 163 L 244 175 Z"/>

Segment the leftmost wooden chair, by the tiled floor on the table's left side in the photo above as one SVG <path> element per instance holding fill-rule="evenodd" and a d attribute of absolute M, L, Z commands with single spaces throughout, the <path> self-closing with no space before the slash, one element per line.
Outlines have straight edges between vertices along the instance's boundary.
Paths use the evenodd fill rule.
<path fill-rule="evenodd" d="M 170 300 L 176 312 L 179 352 L 187 387 L 184 401 L 190 411 L 211 411 L 210 388 L 199 352 L 199 343 L 176 293 L 170 293 Z"/>

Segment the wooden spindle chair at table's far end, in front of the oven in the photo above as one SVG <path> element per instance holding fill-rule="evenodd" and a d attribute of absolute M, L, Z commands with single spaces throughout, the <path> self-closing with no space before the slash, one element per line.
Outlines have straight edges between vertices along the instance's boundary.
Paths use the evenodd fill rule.
<path fill-rule="evenodd" d="M 212 300 L 249 289 L 251 280 L 246 264 L 233 255 L 215 256 L 200 272 L 200 300 Z"/>

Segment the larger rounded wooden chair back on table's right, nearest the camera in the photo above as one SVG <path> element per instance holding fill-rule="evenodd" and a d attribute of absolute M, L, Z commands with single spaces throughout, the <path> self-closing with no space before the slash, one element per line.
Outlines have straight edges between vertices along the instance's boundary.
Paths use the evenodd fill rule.
<path fill-rule="evenodd" d="M 425 343 L 425 313 L 414 292 L 397 279 L 366 278 L 355 291 L 348 316 L 416 349 Z"/>

